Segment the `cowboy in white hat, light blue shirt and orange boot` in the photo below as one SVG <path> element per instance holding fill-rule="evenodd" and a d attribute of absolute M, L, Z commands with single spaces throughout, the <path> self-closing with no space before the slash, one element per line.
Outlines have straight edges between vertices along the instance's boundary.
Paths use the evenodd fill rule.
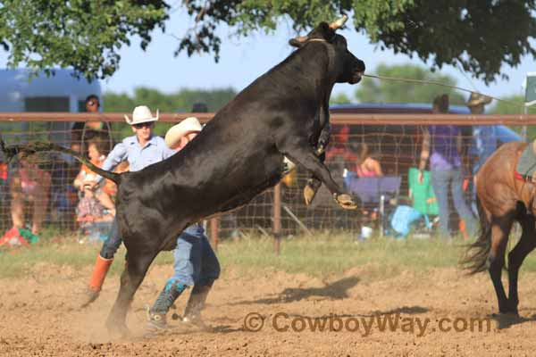
<path fill-rule="evenodd" d="M 151 110 L 140 105 L 134 108 L 132 117 L 125 115 L 125 120 L 130 124 L 134 135 L 125 137 L 121 143 L 115 145 L 113 150 L 106 157 L 103 163 L 104 170 L 113 170 L 118 164 L 128 161 L 130 171 L 142 170 L 148 165 L 155 162 L 161 162 L 164 159 L 175 154 L 175 151 L 165 145 L 162 137 L 153 135 L 155 121 L 158 120 L 158 110 L 153 115 Z M 102 180 L 98 177 L 96 184 Z M 108 238 L 96 258 L 95 268 L 91 275 L 86 300 L 82 306 L 87 306 L 98 297 L 101 287 L 105 282 L 106 273 L 113 262 L 113 255 L 121 245 L 121 237 L 117 228 L 117 221 L 113 220 L 112 229 Z"/>

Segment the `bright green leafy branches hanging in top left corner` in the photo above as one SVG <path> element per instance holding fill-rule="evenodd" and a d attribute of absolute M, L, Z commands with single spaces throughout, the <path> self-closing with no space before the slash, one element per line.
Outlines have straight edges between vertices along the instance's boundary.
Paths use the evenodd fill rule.
<path fill-rule="evenodd" d="M 169 6 L 158 0 L 1 0 L 0 48 L 8 66 L 25 63 L 35 71 L 72 67 L 87 79 L 105 79 L 117 71 L 123 45 L 164 29 Z"/>

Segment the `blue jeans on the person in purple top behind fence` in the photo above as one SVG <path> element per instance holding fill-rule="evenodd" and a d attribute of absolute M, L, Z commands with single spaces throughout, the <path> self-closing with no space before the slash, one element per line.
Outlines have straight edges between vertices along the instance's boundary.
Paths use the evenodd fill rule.
<path fill-rule="evenodd" d="M 471 237 L 476 232 L 477 222 L 473 212 L 465 203 L 463 184 L 464 178 L 460 169 L 431 170 L 431 187 L 440 207 L 440 235 L 442 237 L 450 237 L 448 233 L 448 187 L 450 187 L 456 212 L 464 220 L 468 235 Z"/>

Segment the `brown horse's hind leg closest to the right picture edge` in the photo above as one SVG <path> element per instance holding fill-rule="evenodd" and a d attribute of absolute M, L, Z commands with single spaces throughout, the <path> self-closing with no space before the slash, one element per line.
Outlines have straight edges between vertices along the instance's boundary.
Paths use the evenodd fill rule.
<path fill-rule="evenodd" d="M 522 234 L 521 239 L 515 245 L 514 249 L 508 253 L 508 312 L 517 314 L 517 304 L 519 297 L 517 295 L 517 278 L 519 276 L 519 268 L 523 263 L 524 258 L 528 253 L 531 253 L 536 247 L 534 240 L 534 217 L 525 214 L 521 220 Z"/>

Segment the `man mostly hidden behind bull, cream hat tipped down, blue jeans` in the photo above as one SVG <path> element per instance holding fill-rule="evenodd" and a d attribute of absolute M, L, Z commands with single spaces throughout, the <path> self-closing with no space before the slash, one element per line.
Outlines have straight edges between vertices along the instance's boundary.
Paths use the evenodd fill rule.
<path fill-rule="evenodd" d="M 180 151 L 201 129 L 197 118 L 187 118 L 168 130 L 165 143 L 173 150 Z M 180 234 L 173 257 L 175 262 L 172 278 L 167 280 L 162 292 L 148 311 L 147 332 L 167 328 L 166 314 L 188 286 L 194 287 L 182 321 L 192 323 L 198 328 L 205 328 L 201 320 L 201 311 L 214 280 L 220 277 L 220 263 L 205 236 L 205 230 L 199 224 L 189 226 Z"/>

